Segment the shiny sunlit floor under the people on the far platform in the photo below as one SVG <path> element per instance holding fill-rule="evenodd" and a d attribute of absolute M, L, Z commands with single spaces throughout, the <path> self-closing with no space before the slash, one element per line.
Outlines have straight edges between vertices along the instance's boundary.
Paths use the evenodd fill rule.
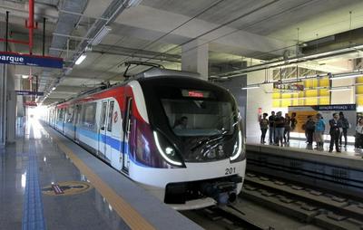
<path fill-rule="evenodd" d="M 312 145 L 308 145 L 305 139 L 289 139 L 289 143 L 285 143 L 283 147 L 280 148 L 295 148 L 295 149 L 308 149 L 312 150 L 312 152 L 324 152 L 329 153 L 329 137 L 325 138 L 326 141 L 324 143 L 324 149 L 317 149 L 316 143 L 313 142 Z M 328 140 L 327 140 L 328 139 Z M 348 139 L 348 141 L 351 139 Z M 344 141 L 344 140 L 343 140 Z M 260 137 L 248 137 L 247 144 L 260 144 Z M 272 145 L 269 143 L 269 135 L 266 135 L 266 143 L 263 145 Z M 335 148 L 331 153 L 332 156 L 349 156 L 353 158 L 362 158 L 363 157 L 363 149 L 355 149 L 354 144 L 352 142 L 348 142 L 347 147 L 341 146 L 341 152 L 337 153 Z"/>

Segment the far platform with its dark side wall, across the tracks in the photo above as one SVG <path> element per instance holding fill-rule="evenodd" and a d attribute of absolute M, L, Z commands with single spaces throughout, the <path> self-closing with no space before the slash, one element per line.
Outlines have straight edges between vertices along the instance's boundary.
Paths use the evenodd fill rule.
<path fill-rule="evenodd" d="M 304 140 L 290 139 L 289 145 L 279 147 L 249 139 L 246 149 L 250 172 L 362 198 L 362 151 L 354 149 L 354 145 L 330 153 L 329 143 L 324 144 L 323 150 L 316 150 Z"/>

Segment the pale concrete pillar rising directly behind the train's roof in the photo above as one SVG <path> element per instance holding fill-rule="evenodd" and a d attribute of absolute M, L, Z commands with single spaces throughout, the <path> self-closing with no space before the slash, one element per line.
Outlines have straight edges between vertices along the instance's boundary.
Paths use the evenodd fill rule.
<path fill-rule="evenodd" d="M 194 40 L 182 46 L 182 71 L 199 72 L 208 81 L 208 43 Z"/>

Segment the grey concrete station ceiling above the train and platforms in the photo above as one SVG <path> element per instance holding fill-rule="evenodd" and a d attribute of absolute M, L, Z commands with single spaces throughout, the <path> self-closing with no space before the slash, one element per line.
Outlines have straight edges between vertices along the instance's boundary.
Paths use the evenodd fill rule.
<path fill-rule="evenodd" d="M 63 70 L 32 70 L 40 78 L 39 91 L 50 92 L 39 101 L 62 101 L 102 81 L 123 81 L 126 61 L 157 62 L 166 68 L 180 69 L 181 44 L 194 39 L 209 44 L 210 75 L 218 78 L 250 65 L 294 57 L 297 43 L 363 27 L 361 0 L 142 0 L 140 5 L 124 8 L 119 8 L 117 2 L 123 3 L 35 0 L 34 16 L 39 26 L 34 31 L 34 54 L 42 53 L 46 18 L 45 53 L 62 57 L 65 63 Z M 124 0 L 124 5 L 128 3 Z M 0 0 L 0 22 L 5 22 L 6 11 L 10 13 L 11 38 L 27 40 L 28 1 Z M 83 44 L 97 33 L 94 29 L 108 19 L 112 19 L 108 23 L 111 33 L 86 52 L 82 64 L 74 65 L 85 49 Z M 323 44 L 315 45 L 318 52 Z M 29 53 L 23 44 L 12 44 L 11 49 Z M 358 50 L 304 64 L 319 71 L 344 72 L 350 67 L 338 62 L 360 57 Z M 141 71 L 140 67 L 132 69 L 134 73 Z M 16 66 L 15 73 L 21 78 L 22 74 L 29 74 L 29 68 Z"/>

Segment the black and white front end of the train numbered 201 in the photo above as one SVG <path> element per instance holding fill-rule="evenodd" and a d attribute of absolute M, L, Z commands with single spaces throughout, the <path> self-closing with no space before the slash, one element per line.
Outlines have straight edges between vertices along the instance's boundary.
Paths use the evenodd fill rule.
<path fill-rule="evenodd" d="M 140 84 L 152 129 L 150 145 L 158 157 L 153 168 L 138 167 L 133 177 L 175 209 L 234 202 L 246 158 L 231 93 L 208 81 L 181 77 Z"/>

